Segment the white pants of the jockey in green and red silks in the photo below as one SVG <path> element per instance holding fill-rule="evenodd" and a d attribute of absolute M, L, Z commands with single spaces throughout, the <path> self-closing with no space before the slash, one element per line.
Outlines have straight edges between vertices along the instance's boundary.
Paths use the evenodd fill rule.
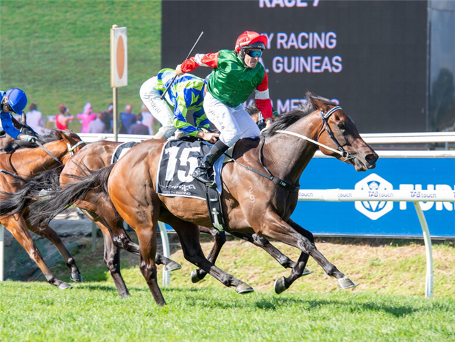
<path fill-rule="evenodd" d="M 227 107 L 206 92 L 204 96 L 204 111 L 212 124 L 220 131 L 219 139 L 227 146 L 233 146 L 243 137 L 258 137 L 258 125 L 249 116 L 243 105 L 235 108 Z"/>

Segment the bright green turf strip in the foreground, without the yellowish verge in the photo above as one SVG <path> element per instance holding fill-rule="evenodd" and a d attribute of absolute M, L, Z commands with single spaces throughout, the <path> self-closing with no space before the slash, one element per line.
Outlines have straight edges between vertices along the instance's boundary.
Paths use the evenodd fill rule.
<path fill-rule="evenodd" d="M 252 293 L 148 289 L 119 298 L 103 282 L 57 291 L 0 285 L 2 341 L 454 341 L 454 299 L 372 293 Z M 18 295 L 18 293 L 21 293 Z"/>

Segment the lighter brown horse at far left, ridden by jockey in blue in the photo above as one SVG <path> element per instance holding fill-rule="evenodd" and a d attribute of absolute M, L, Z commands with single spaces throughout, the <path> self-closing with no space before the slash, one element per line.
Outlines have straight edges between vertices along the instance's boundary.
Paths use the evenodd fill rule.
<path fill-rule="evenodd" d="M 12 151 L 12 153 L 0 153 L 0 206 L 8 204 L 7 202 L 3 202 L 4 193 L 18 191 L 21 187 L 21 180 L 35 176 L 45 170 L 57 168 L 61 163 L 66 163 L 73 152 L 83 146 L 80 144 L 81 140 L 79 136 L 73 133 L 73 131 L 53 131 L 52 135 L 43 139 L 44 142 L 48 141 L 44 146 L 53 157 L 43 148 L 36 147 L 36 144 L 25 142 L 16 143 L 24 146 L 34 146 L 35 148 L 20 148 Z M 77 145 L 78 143 L 79 145 Z M 73 149 L 74 146 L 75 148 Z M 82 281 L 82 276 L 73 257 L 66 250 L 57 233 L 47 225 L 38 228 L 36 225 L 30 224 L 27 219 L 28 214 L 28 211 L 24 211 L 23 213 L 12 216 L 2 216 L 0 222 L 12 233 L 14 238 L 29 254 L 29 257 L 38 264 L 38 267 L 40 267 L 51 285 L 55 285 L 59 289 L 71 287 L 67 282 L 56 278 L 49 267 L 47 267 L 29 231 L 51 241 L 58 248 L 60 254 L 62 254 L 66 265 L 71 269 L 71 279 L 78 282 Z"/>

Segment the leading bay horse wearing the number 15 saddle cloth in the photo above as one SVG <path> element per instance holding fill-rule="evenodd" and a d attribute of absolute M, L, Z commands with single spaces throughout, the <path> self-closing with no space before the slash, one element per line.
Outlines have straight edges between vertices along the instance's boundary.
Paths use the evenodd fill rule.
<path fill-rule="evenodd" d="M 326 274 L 338 279 L 341 288 L 355 286 L 317 250 L 312 234 L 290 217 L 297 205 L 300 176 L 318 144 L 322 153 L 351 163 L 357 171 L 374 168 L 378 159 L 341 107 L 309 93 L 307 99 L 304 108 L 276 119 L 259 140 L 237 142 L 233 153 L 236 162 L 226 163 L 221 173 L 221 202 L 229 231 L 257 233 L 301 250 L 291 275 L 275 282 L 277 293 L 302 276 L 309 256 Z M 93 172 L 80 183 L 100 189 L 107 184 L 114 207 L 138 235 L 140 271 L 158 304 L 165 304 L 156 276 L 158 220 L 175 229 L 188 261 L 242 293 L 248 285 L 204 257 L 198 225 L 208 226 L 210 220 L 201 200 L 157 194 L 156 173 L 163 146 L 161 140 L 142 142 L 114 166 Z"/>

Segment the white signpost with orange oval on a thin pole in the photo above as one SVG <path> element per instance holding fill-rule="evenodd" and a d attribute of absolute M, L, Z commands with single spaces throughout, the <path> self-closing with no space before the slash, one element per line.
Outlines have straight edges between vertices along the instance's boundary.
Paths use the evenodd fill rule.
<path fill-rule="evenodd" d="M 119 129 L 119 108 L 117 88 L 128 85 L 128 54 L 126 27 L 112 25 L 110 29 L 110 88 L 112 88 L 112 105 L 114 116 L 114 140 L 117 141 Z"/>

